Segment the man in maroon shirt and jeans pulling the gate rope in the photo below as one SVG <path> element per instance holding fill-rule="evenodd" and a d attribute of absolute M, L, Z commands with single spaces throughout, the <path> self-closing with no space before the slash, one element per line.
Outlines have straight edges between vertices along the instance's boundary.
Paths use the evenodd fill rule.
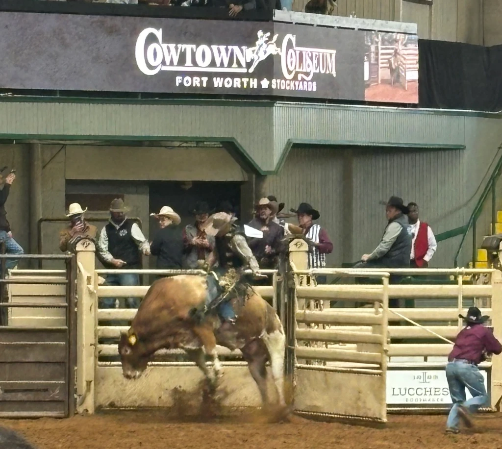
<path fill-rule="evenodd" d="M 484 361 L 486 356 L 502 352 L 502 346 L 493 336 L 493 332 L 483 326 L 489 317 L 481 316 L 481 311 L 477 307 L 469 308 L 467 317 L 462 315 L 459 317 L 465 321 L 466 326 L 457 335 L 446 365 L 446 378 L 453 402 L 446 421 L 447 433 L 459 432 L 459 418 L 467 427 L 472 426 L 470 414 L 488 400 L 484 378 L 477 365 Z M 472 395 L 467 401 L 466 388 Z"/>

